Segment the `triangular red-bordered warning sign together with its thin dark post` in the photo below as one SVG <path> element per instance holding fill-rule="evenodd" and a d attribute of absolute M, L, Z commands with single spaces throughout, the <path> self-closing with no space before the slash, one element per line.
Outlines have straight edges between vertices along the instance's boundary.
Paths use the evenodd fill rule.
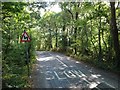
<path fill-rule="evenodd" d="M 20 42 L 25 42 L 25 62 L 28 68 L 28 76 L 30 75 L 30 68 L 29 68 L 29 53 L 28 53 L 28 47 L 27 47 L 27 42 L 30 42 L 30 37 L 28 36 L 28 34 L 26 33 L 26 31 L 24 30 L 24 33 L 22 35 L 22 38 L 20 40 Z"/>

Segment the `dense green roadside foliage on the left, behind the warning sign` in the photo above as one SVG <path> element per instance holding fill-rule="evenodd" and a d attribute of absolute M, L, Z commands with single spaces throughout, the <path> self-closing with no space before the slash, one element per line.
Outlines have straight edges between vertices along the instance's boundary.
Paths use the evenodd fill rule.
<path fill-rule="evenodd" d="M 28 47 L 29 60 L 32 64 L 35 59 L 35 45 L 33 44 L 34 36 L 31 35 L 33 32 L 28 25 L 28 23 L 31 23 L 30 14 L 25 11 L 25 7 L 27 7 L 27 4 L 21 2 L 2 3 L 3 88 L 30 87 L 25 62 L 25 46 Z M 26 30 L 31 37 L 31 42 L 20 42 L 24 30 Z"/>

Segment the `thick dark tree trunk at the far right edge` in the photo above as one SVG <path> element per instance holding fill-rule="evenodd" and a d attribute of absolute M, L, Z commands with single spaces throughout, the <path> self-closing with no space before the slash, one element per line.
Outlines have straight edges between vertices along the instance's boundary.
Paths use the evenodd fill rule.
<path fill-rule="evenodd" d="M 120 48 L 119 48 L 119 39 L 118 39 L 118 29 L 116 25 L 116 11 L 115 11 L 115 2 L 110 2 L 111 6 L 111 34 L 113 38 L 113 47 L 115 51 L 116 66 L 120 67 Z"/>

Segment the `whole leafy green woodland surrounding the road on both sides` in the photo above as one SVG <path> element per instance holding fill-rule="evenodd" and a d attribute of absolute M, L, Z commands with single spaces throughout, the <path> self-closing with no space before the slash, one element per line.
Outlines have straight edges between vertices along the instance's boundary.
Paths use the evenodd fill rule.
<path fill-rule="evenodd" d="M 60 12 L 46 9 L 55 4 Z M 120 73 L 119 6 L 119 2 L 2 2 L 2 87 L 31 87 L 27 65 L 31 73 L 35 51 L 61 52 Z M 24 30 L 30 42 L 20 42 Z"/>

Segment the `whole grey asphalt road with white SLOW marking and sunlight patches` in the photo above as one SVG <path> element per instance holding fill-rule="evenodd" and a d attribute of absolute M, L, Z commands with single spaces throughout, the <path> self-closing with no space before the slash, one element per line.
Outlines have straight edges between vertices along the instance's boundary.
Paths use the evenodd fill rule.
<path fill-rule="evenodd" d="M 60 53 L 36 53 L 37 63 L 31 75 L 33 88 L 120 90 L 120 78 L 113 73 L 78 62 Z"/>

